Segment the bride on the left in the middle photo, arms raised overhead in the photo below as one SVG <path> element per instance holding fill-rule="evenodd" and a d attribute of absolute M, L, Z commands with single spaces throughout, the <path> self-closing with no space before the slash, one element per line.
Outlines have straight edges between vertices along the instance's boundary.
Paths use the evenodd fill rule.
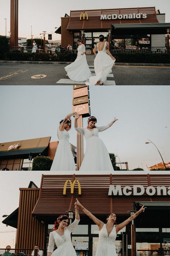
<path fill-rule="evenodd" d="M 59 144 L 50 171 L 75 171 L 75 162 L 70 148 L 68 133 L 72 127 L 70 119 L 72 115 L 75 115 L 75 112 L 66 115 L 64 120 L 60 122 L 58 128 Z"/>

